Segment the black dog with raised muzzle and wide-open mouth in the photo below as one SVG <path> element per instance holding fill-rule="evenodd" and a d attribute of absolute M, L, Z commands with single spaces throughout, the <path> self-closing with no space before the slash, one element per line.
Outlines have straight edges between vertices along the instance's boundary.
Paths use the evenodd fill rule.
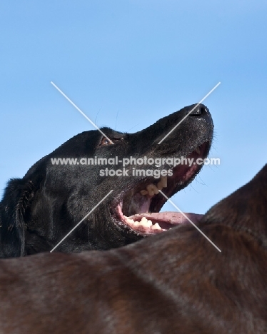
<path fill-rule="evenodd" d="M 186 187 L 213 137 L 208 108 L 201 104 L 190 113 L 194 106 L 137 133 L 102 128 L 113 144 L 97 130 L 80 133 L 35 163 L 24 178 L 9 181 L 0 203 L 0 258 L 51 251 L 111 190 L 56 251 L 116 248 L 170 228 L 171 218 L 161 214 L 160 222 L 156 216 L 166 202 L 158 189 L 171 197 Z M 194 163 L 173 168 L 182 156 Z"/>

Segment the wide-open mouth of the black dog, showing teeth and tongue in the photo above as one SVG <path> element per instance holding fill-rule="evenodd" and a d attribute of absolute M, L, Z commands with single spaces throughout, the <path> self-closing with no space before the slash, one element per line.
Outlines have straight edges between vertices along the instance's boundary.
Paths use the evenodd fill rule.
<path fill-rule="evenodd" d="M 159 212 L 166 198 L 160 193 L 162 191 L 168 198 L 188 186 L 195 178 L 202 165 L 197 163 L 198 158 L 206 158 L 211 143 L 198 146 L 191 152 L 187 159 L 193 158 L 191 166 L 181 164 L 172 168 L 172 176 L 161 176 L 161 178 L 145 178 L 129 191 L 119 196 L 115 205 L 114 219 L 116 223 L 127 228 L 138 235 L 151 235 L 168 231 L 173 226 L 189 223 L 188 217 L 193 223 L 197 223 L 202 215 L 196 213 Z"/>

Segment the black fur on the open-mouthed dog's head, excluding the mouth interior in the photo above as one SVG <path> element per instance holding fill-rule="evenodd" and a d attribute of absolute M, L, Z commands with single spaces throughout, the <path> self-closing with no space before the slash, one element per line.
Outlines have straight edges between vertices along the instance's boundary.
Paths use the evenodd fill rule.
<path fill-rule="evenodd" d="M 56 166 L 51 164 L 51 158 L 179 157 L 186 156 L 208 141 L 206 151 L 203 152 L 206 156 L 211 146 L 213 123 L 208 109 L 203 105 L 198 106 L 158 145 L 158 141 L 191 111 L 191 108 L 193 106 L 188 106 L 161 118 L 137 133 L 120 133 L 110 128 L 102 128 L 114 141 L 114 145 L 107 145 L 106 139 L 97 130 L 80 133 L 41 158 L 24 178 L 9 181 L 0 203 L 0 257 L 51 251 L 111 189 L 114 189 L 111 196 L 106 198 L 56 251 L 105 250 L 143 238 L 143 235 L 134 233 L 131 228 L 117 224 L 112 213 L 122 194 L 145 178 L 103 177 L 99 176 L 99 170 L 103 166 Z M 198 171 L 200 168 L 201 166 Z M 186 184 L 177 185 L 173 193 Z"/>

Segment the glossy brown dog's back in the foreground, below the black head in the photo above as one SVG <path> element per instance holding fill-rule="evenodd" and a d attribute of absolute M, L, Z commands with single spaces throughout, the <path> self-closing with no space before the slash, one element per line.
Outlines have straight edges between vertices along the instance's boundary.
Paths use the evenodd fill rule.
<path fill-rule="evenodd" d="M 0 261 L 0 333 L 267 333 L 267 165 L 198 224 Z"/>

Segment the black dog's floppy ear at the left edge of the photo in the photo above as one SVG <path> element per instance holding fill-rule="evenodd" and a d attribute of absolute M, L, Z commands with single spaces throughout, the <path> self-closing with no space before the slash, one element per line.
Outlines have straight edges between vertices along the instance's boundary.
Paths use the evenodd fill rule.
<path fill-rule="evenodd" d="M 9 181 L 0 206 L 0 258 L 24 255 L 24 216 L 34 196 L 34 184 L 20 178 Z"/>

